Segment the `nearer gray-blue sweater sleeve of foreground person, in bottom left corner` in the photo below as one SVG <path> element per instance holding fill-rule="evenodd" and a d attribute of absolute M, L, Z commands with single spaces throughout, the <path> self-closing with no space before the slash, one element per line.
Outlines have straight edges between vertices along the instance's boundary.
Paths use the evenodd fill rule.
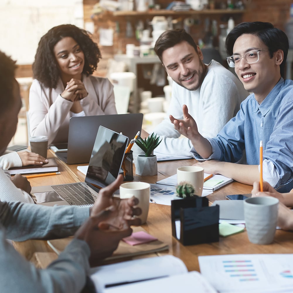
<path fill-rule="evenodd" d="M 15 251 L 0 229 L 1 293 L 80 292 L 89 270 L 89 255 L 86 242 L 74 239 L 47 269 L 37 269 Z"/>

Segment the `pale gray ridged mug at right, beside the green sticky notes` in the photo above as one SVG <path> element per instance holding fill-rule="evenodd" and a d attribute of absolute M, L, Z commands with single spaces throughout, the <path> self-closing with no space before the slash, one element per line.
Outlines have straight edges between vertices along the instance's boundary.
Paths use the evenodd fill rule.
<path fill-rule="evenodd" d="M 272 243 L 277 226 L 278 205 L 279 200 L 275 197 L 251 197 L 244 201 L 244 220 L 251 243 Z"/>

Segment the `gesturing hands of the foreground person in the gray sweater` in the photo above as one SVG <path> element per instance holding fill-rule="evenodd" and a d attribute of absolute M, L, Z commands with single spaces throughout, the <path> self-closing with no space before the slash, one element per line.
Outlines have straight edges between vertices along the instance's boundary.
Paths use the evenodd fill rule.
<path fill-rule="evenodd" d="M 98 198 L 91 208 L 90 218 L 76 231 L 75 237 L 88 243 L 91 250 L 90 265 L 98 265 L 100 260 L 112 255 L 119 241 L 132 234 L 130 225 L 140 225 L 135 215 L 141 214 L 135 197 L 117 199 L 112 195 L 119 189 L 123 176 L 100 190 Z"/>

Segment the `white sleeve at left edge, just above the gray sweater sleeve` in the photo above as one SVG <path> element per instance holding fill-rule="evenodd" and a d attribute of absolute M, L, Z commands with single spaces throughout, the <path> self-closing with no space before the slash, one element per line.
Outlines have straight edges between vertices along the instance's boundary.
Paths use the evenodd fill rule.
<path fill-rule="evenodd" d="M 34 203 L 32 197 L 28 193 L 20 188 L 16 188 L 2 168 L 0 168 L 0 201 Z"/>

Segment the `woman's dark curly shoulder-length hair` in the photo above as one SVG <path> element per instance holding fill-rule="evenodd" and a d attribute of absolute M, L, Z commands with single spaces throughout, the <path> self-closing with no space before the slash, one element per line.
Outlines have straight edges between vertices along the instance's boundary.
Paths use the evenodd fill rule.
<path fill-rule="evenodd" d="M 54 47 L 60 40 L 66 37 L 73 38 L 83 51 L 84 69 L 82 73 L 86 74 L 86 76 L 93 74 L 102 57 L 97 43 L 93 42 L 91 35 L 86 30 L 71 24 L 63 24 L 51 28 L 40 39 L 33 63 L 33 77 L 48 88 L 57 87 L 60 72 L 54 55 Z"/>

